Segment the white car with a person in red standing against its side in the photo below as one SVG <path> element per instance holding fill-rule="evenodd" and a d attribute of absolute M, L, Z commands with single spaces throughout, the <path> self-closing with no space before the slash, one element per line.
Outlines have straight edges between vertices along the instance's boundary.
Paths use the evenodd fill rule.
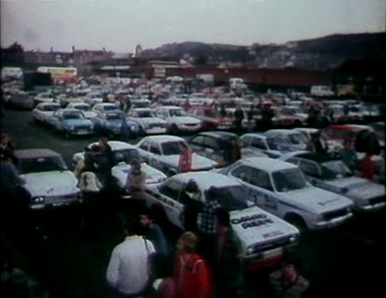
<path fill-rule="evenodd" d="M 189 148 L 186 141 L 180 137 L 155 135 L 144 137 L 137 143 L 136 147 L 142 160 L 166 175 L 172 176 L 180 172 L 178 163 L 180 161 L 181 144 Z M 191 165 L 193 171 L 211 170 L 217 164 L 215 161 L 193 152 Z"/>

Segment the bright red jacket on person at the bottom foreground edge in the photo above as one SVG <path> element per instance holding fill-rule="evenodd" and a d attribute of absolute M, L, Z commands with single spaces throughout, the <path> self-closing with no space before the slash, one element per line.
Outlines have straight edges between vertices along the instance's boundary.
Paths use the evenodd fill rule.
<path fill-rule="evenodd" d="M 182 255 L 177 254 L 174 276 L 178 298 L 211 297 L 209 268 L 199 255 L 190 255 L 184 261 Z"/>

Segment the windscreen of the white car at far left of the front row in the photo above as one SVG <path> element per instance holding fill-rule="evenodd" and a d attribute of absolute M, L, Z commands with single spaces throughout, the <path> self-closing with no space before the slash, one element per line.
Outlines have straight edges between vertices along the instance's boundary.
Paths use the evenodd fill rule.
<path fill-rule="evenodd" d="M 66 164 L 61 157 L 20 159 L 18 167 L 20 174 L 67 170 Z"/>

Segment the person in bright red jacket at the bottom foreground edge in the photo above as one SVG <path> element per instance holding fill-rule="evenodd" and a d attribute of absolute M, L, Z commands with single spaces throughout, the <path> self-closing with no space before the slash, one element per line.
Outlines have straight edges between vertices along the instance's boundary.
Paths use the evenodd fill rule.
<path fill-rule="evenodd" d="M 211 275 L 204 259 L 197 255 L 197 236 L 184 232 L 177 242 L 174 278 L 178 298 L 209 298 Z"/>

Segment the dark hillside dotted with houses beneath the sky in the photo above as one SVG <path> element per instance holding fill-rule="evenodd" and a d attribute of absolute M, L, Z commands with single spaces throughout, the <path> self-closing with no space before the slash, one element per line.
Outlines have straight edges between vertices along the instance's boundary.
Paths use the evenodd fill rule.
<path fill-rule="evenodd" d="M 234 46 L 186 41 L 144 50 L 146 57 L 179 57 L 192 63 L 235 63 L 260 68 L 336 68 L 347 59 L 385 59 L 386 33 L 334 34 L 283 44 Z"/>

